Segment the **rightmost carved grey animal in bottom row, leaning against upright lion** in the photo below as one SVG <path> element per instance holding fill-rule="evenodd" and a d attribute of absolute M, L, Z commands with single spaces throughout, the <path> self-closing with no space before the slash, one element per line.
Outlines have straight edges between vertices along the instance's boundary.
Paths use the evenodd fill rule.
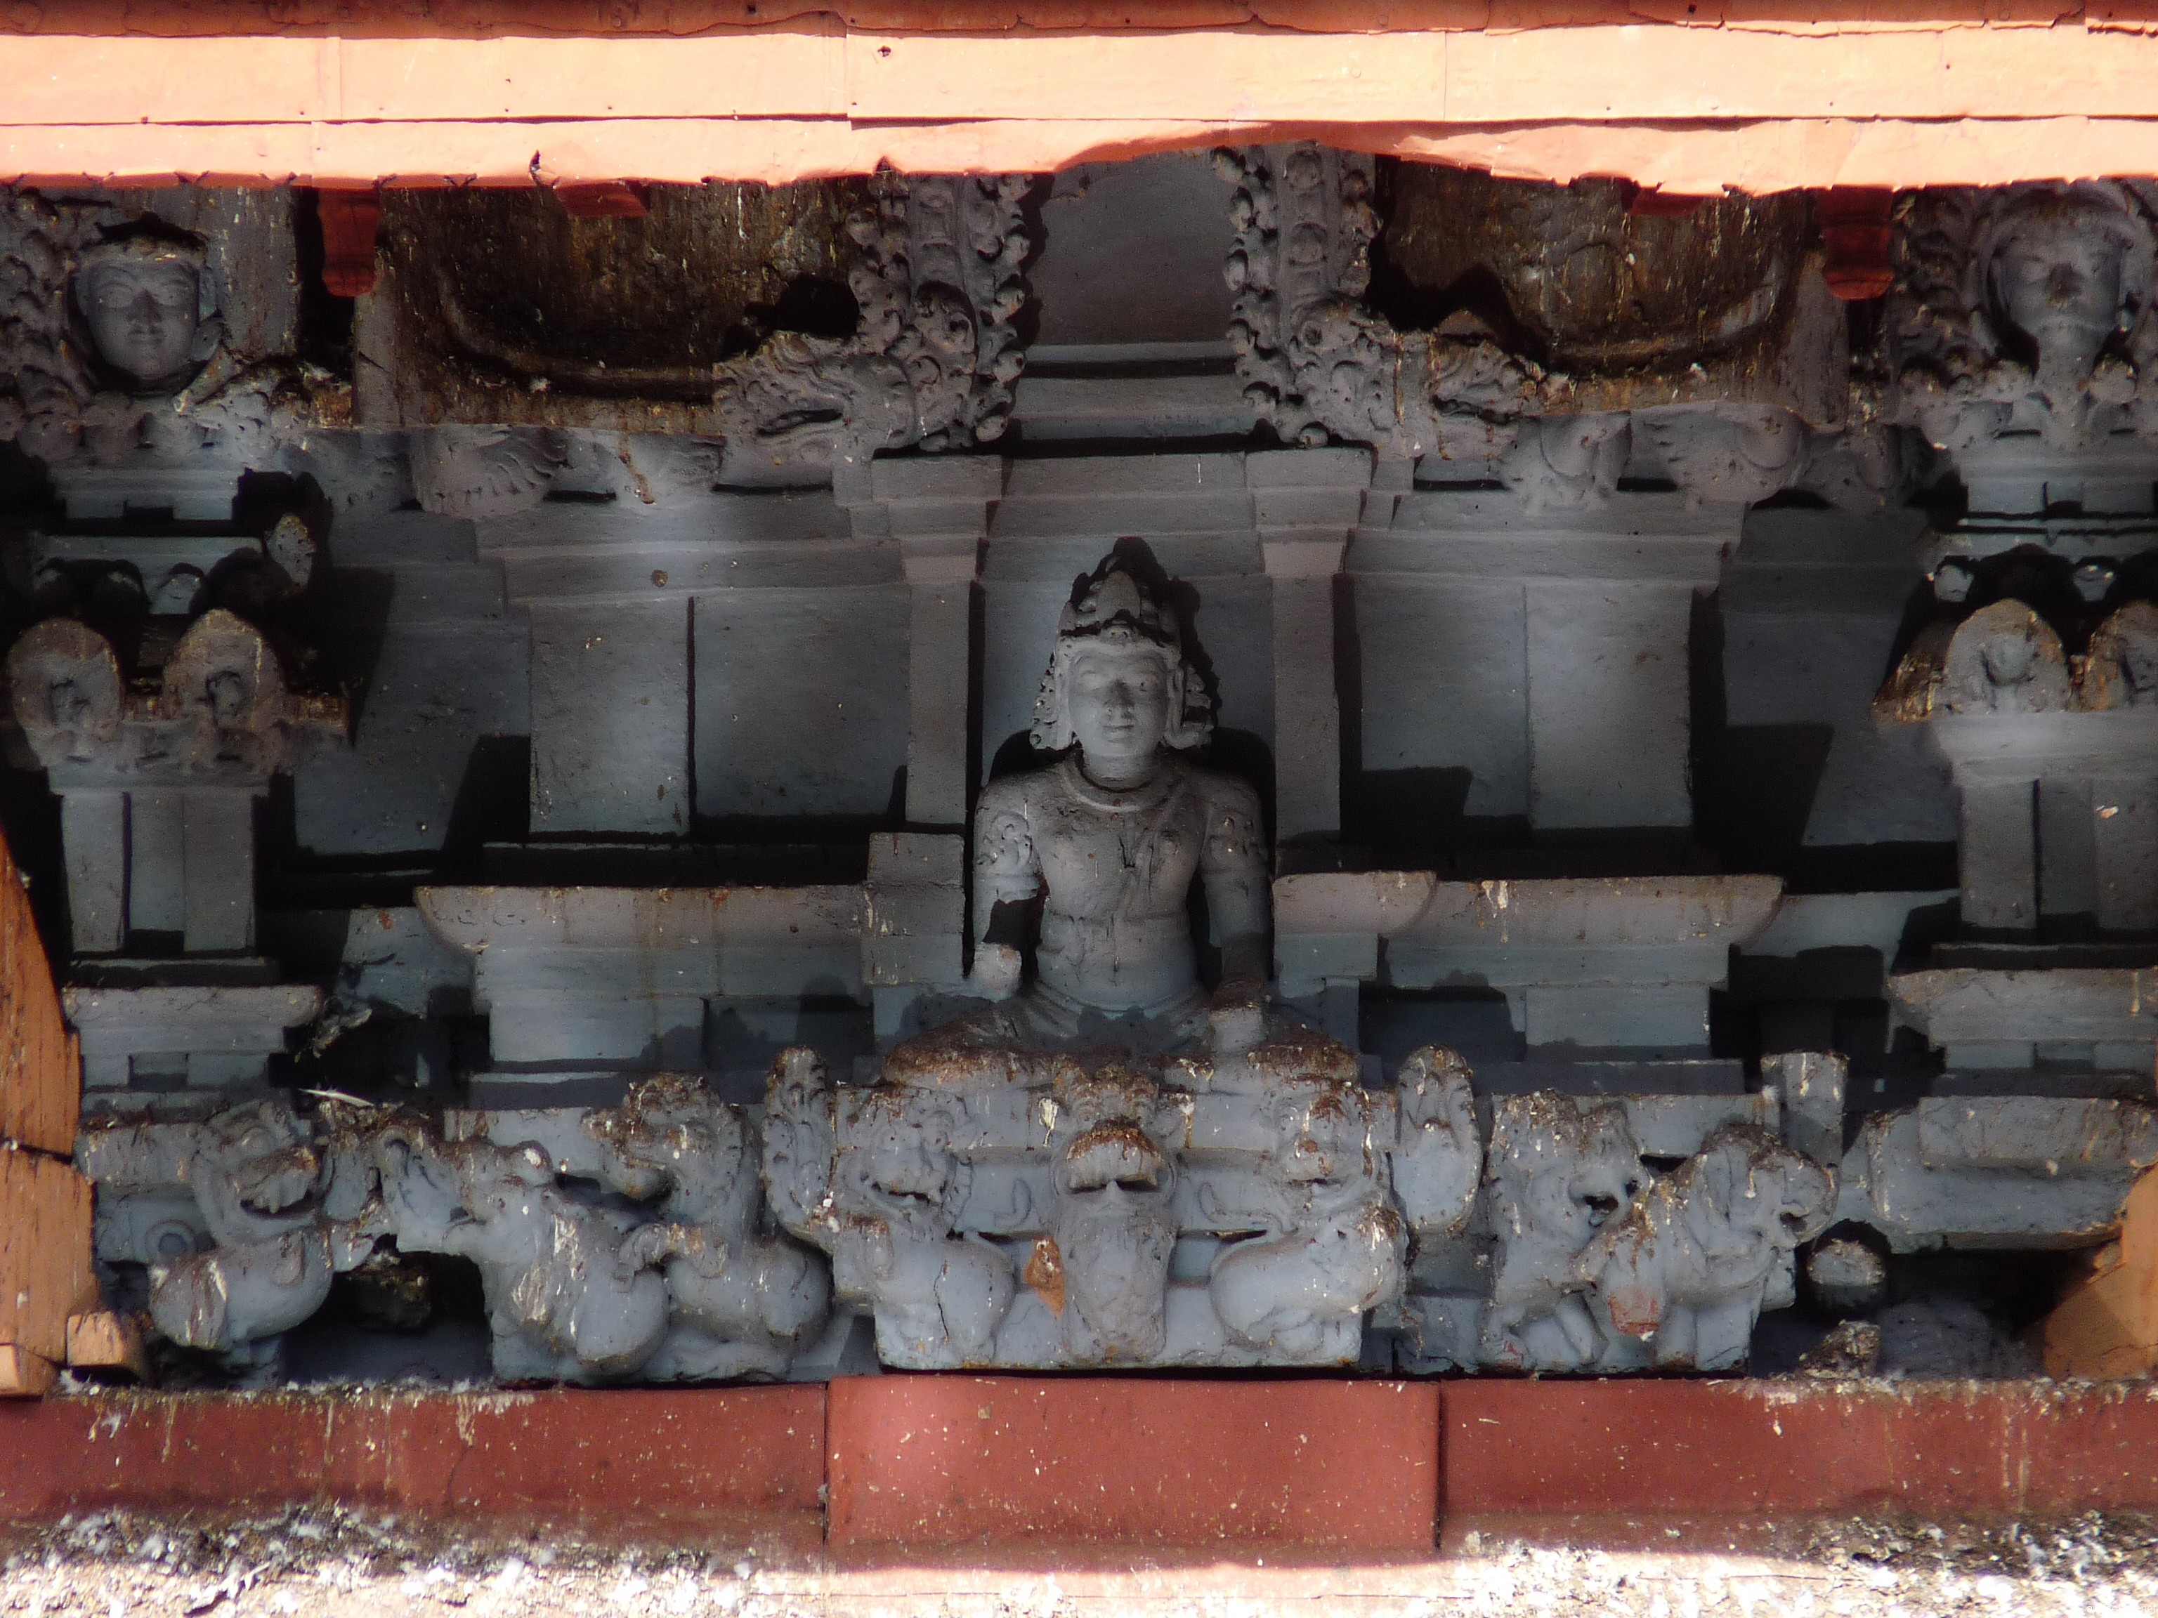
<path fill-rule="evenodd" d="M 1791 1253 L 1819 1236 L 1836 1176 L 1752 1124 L 1726 1124 L 1573 1260 L 1593 1290 L 1603 1368 L 1638 1342 L 1657 1370 L 1735 1370 L 1761 1310 L 1789 1307 Z"/>

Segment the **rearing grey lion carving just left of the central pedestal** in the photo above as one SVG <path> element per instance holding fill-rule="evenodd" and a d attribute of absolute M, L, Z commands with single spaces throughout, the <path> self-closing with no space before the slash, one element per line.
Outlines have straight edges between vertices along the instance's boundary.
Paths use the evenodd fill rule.
<path fill-rule="evenodd" d="M 824 1327 L 831 1279 L 794 1243 L 757 1234 L 762 1154 L 742 1109 L 695 1079 L 654 1074 L 583 1128 L 606 1148 L 606 1187 L 660 1199 L 619 1260 L 667 1277 L 667 1340 L 645 1381 L 783 1374 Z"/>

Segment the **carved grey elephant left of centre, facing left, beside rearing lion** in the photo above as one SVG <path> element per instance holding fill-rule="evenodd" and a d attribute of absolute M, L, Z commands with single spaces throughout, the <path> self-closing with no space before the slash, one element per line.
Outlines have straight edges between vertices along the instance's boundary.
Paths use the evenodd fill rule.
<path fill-rule="evenodd" d="M 399 1251 L 479 1266 L 496 1376 L 624 1381 L 658 1353 L 667 1281 L 624 1253 L 626 1217 L 557 1187 L 544 1150 L 395 1128 L 375 1154 Z"/>

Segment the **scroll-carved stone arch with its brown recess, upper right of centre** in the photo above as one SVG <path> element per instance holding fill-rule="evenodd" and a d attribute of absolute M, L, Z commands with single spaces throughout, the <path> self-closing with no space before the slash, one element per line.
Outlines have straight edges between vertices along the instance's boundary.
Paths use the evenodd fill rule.
<path fill-rule="evenodd" d="M 1694 501 L 1806 479 L 1877 507 L 1893 481 L 1877 449 L 1845 444 L 1843 315 L 1789 198 L 1705 201 L 1698 224 L 1634 220 L 1610 183 L 1405 164 L 1381 220 L 1372 157 L 1303 142 L 1217 162 L 1237 186 L 1230 343 L 1288 442 L 1493 462 L 1530 509 L 1610 498 L 1636 442 Z M 1401 330 L 1370 306 L 1375 250 L 1431 296 L 1480 276 L 1504 306 Z"/>

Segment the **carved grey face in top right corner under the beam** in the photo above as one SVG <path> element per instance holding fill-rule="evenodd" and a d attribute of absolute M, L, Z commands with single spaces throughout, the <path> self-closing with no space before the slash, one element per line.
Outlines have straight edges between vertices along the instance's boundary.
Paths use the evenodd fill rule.
<path fill-rule="evenodd" d="M 2100 354 L 2149 308 L 2152 227 L 2119 186 L 2022 186 L 1979 224 L 1983 308 L 2048 395 L 2091 380 Z"/>

